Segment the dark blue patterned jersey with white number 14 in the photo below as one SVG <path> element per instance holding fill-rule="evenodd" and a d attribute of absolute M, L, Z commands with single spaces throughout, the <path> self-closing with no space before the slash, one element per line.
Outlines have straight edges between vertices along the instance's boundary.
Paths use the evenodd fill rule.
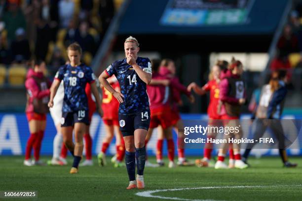
<path fill-rule="evenodd" d="M 151 62 L 148 58 L 138 57 L 136 63 L 145 72 L 151 73 Z M 127 64 L 127 59 L 117 60 L 107 67 L 105 72 L 109 76 L 115 75 L 120 85 L 120 92 L 124 95 L 124 102 L 119 104 L 119 114 L 131 115 L 150 109 L 147 85 L 133 67 Z"/>

